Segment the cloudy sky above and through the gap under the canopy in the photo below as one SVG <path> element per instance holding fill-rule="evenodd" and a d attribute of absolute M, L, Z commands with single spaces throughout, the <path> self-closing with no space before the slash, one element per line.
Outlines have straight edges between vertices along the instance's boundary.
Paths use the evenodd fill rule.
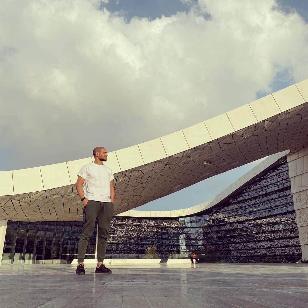
<path fill-rule="evenodd" d="M 294 0 L 3 0 L 0 170 L 167 135 L 308 78 Z M 256 163 L 143 209 L 192 206 Z"/>

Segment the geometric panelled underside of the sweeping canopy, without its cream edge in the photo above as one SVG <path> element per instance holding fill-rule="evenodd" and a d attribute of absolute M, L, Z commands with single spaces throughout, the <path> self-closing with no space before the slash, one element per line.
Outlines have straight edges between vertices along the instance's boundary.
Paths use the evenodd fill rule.
<path fill-rule="evenodd" d="M 305 99 L 304 101 L 306 101 Z M 117 172 L 115 215 L 262 157 L 308 146 L 308 103 L 180 153 Z M 211 164 L 204 164 L 208 161 Z M 0 219 L 81 221 L 75 184 L 0 196 Z M 193 205 L 188 205 L 193 206 Z"/>

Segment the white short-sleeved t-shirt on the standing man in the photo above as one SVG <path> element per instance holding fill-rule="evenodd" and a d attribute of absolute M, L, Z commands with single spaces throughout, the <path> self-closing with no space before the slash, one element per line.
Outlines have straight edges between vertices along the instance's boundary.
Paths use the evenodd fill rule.
<path fill-rule="evenodd" d="M 110 202 L 110 182 L 114 179 L 112 170 L 105 165 L 90 163 L 84 165 L 77 176 L 85 179 L 83 194 L 88 200 Z"/>

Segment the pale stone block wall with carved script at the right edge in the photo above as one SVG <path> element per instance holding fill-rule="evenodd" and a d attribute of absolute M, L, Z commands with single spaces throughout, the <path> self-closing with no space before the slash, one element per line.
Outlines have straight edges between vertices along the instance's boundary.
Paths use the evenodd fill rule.
<path fill-rule="evenodd" d="M 302 259 L 308 260 L 308 147 L 287 156 Z"/>

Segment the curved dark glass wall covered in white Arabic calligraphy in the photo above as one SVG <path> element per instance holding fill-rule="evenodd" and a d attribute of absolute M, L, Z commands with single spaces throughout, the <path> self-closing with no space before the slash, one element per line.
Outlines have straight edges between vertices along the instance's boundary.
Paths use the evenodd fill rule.
<path fill-rule="evenodd" d="M 190 206 L 190 205 L 189 205 Z M 301 259 L 286 157 L 202 215 L 185 218 L 114 217 L 107 253 L 199 253 L 211 248 L 229 262 Z"/>

